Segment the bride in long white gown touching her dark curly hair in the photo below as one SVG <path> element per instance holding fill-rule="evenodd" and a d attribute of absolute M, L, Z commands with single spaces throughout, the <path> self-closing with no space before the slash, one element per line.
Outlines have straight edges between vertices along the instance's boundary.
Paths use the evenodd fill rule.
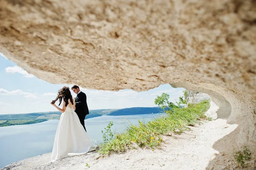
<path fill-rule="evenodd" d="M 61 109 L 58 106 L 61 105 L 62 99 L 63 107 Z M 57 100 L 59 100 L 58 106 L 55 105 Z M 75 100 L 72 98 L 69 87 L 64 86 L 60 89 L 58 96 L 51 104 L 62 113 L 55 135 L 51 160 L 60 160 L 95 150 L 96 146 L 88 137 L 74 111 L 76 109 Z"/>

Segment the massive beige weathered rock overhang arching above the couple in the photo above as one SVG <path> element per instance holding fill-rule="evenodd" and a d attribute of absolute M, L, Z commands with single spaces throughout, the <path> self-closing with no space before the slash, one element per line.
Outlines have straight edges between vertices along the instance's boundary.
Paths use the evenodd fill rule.
<path fill-rule="evenodd" d="M 255 0 L 0 0 L 0 52 L 50 83 L 199 84 L 255 144 Z"/>

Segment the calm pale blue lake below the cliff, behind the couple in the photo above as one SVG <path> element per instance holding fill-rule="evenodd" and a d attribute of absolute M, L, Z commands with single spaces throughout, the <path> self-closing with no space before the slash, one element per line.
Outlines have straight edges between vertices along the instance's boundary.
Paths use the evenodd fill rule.
<path fill-rule="evenodd" d="M 148 122 L 161 114 L 145 115 L 103 115 L 86 119 L 85 127 L 95 144 L 103 142 L 102 130 L 113 121 L 112 130 L 122 133 L 128 124 L 138 124 L 138 119 Z M 15 161 L 52 152 L 58 120 L 49 120 L 37 124 L 0 127 L 0 168 Z"/>

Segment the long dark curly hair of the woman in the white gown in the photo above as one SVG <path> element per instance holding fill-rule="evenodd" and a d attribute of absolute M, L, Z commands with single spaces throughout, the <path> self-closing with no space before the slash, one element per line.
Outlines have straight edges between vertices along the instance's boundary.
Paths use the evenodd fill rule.
<path fill-rule="evenodd" d="M 54 104 L 59 99 L 60 101 L 59 106 L 60 106 L 62 98 L 65 101 L 65 107 L 67 107 L 68 105 L 68 99 L 70 99 L 70 102 L 72 103 L 72 105 L 74 104 L 69 87 L 64 86 L 61 89 L 59 89 L 58 96 L 56 97 L 55 100 L 52 101 L 52 104 Z"/>

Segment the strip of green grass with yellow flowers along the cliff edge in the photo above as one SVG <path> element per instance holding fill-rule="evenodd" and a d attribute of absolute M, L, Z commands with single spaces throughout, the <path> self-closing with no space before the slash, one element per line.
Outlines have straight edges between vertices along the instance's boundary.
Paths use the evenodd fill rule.
<path fill-rule="evenodd" d="M 163 141 L 162 136 L 170 132 L 182 133 L 187 125 L 195 125 L 198 120 L 207 119 L 204 113 L 209 108 L 209 101 L 200 104 L 189 104 L 186 108 L 174 108 L 166 111 L 167 116 L 155 118 L 144 124 L 130 125 L 125 133 L 116 134 L 113 140 L 102 144 L 99 153 L 111 154 L 125 152 L 128 149 L 147 147 L 154 150 Z"/>

